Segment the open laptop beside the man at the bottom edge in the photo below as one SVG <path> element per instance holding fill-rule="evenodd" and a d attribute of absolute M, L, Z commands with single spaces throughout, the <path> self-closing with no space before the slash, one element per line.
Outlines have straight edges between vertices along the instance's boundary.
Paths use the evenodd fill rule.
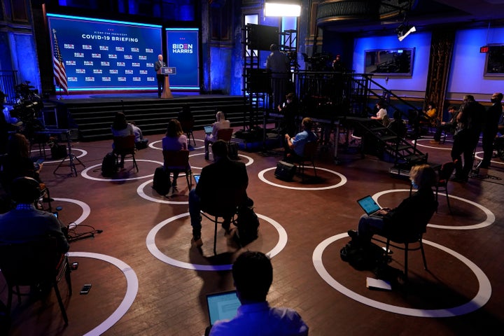
<path fill-rule="evenodd" d="M 218 320 L 230 320 L 237 314 L 238 307 L 241 306 L 236 290 L 228 292 L 213 293 L 207 295 L 207 305 L 210 325 L 214 325 Z"/>

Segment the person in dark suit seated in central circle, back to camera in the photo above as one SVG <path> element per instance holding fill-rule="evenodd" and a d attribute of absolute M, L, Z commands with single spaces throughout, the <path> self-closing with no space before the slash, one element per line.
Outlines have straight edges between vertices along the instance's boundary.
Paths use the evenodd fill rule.
<path fill-rule="evenodd" d="M 214 163 L 203 167 L 200 181 L 189 193 L 189 214 L 193 226 L 192 242 L 197 247 L 203 245 L 200 211 L 211 215 L 216 211 L 225 212 L 223 228 L 228 233 L 232 215 L 235 214 L 233 211 L 248 200 L 246 195 L 248 175 L 244 163 L 228 158 L 228 144 L 223 140 L 215 141 L 211 148 Z"/>

